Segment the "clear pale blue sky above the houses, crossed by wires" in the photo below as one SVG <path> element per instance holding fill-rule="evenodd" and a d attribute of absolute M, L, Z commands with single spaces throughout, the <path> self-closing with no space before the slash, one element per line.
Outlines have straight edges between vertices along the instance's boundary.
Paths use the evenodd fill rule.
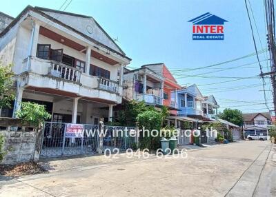
<path fill-rule="evenodd" d="M 0 11 L 17 17 L 28 5 L 66 8 L 66 12 L 92 16 L 132 59 L 129 68 L 165 63 L 180 85 L 196 83 L 204 96 L 213 94 L 220 105 L 219 111 L 228 107 L 244 113 L 268 112 L 262 80 L 257 77 L 260 73 L 257 56 L 231 61 L 255 52 L 242 0 L 1 0 Z M 262 0 L 250 0 L 250 6 L 257 50 L 262 50 L 267 48 L 264 4 Z M 192 24 L 188 21 L 206 12 L 228 21 L 224 25 L 224 41 L 193 41 Z M 268 72 L 268 58 L 267 52 L 259 53 L 264 72 Z M 217 63 L 223 64 L 189 70 Z M 221 83 L 224 81 L 230 82 Z M 269 79 L 265 92 L 268 106 L 273 110 Z"/>

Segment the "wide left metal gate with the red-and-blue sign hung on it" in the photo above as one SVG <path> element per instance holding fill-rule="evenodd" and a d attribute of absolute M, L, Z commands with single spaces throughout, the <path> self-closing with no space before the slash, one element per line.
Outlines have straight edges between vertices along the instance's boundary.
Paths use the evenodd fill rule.
<path fill-rule="evenodd" d="M 74 138 L 66 136 L 67 125 L 53 122 L 44 124 L 41 158 L 96 152 L 99 143 L 98 125 L 83 125 L 82 135 Z"/>

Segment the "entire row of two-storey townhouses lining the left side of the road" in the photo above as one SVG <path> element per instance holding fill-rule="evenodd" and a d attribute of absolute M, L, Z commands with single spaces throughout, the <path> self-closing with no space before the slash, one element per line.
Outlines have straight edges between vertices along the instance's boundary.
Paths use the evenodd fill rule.
<path fill-rule="evenodd" d="M 164 63 L 127 69 L 131 59 L 92 17 L 28 6 L 15 19 L 3 13 L 0 18 L 1 65 L 12 64 L 17 92 L 1 116 L 15 117 L 22 101 L 32 101 L 46 106 L 51 123 L 98 125 L 100 118 L 112 121 L 122 101 L 137 100 L 167 106 L 166 123 L 179 129 L 216 121 L 213 95 L 202 95 L 195 84 L 181 87 Z M 63 143 L 64 152 L 61 135 L 55 144 L 50 141 L 56 129 L 44 137 L 57 149 Z"/>

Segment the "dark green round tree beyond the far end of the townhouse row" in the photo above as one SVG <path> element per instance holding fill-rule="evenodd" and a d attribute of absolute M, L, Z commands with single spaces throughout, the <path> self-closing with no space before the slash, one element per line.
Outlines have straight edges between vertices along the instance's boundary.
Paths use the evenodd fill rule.
<path fill-rule="evenodd" d="M 237 109 L 231 110 L 226 108 L 221 114 L 219 114 L 219 118 L 239 126 L 242 126 L 242 123 L 244 122 L 242 118 L 242 111 Z"/>

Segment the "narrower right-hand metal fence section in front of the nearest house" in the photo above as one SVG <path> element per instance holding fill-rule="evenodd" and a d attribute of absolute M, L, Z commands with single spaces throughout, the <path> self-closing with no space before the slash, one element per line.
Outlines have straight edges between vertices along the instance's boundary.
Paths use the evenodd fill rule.
<path fill-rule="evenodd" d="M 132 147 L 135 137 L 130 136 L 131 130 L 135 130 L 135 127 L 104 126 L 103 149 L 124 150 Z"/>

